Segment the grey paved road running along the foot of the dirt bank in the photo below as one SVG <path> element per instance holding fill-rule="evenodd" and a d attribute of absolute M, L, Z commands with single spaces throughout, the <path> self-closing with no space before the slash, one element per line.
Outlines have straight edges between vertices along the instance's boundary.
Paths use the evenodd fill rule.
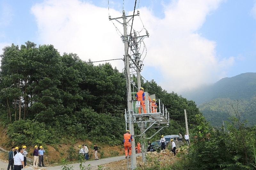
<path fill-rule="evenodd" d="M 136 157 L 141 155 L 141 153 L 137 153 L 136 154 Z M 109 162 L 115 162 L 117 160 L 123 160 L 125 159 L 125 156 L 116 156 L 116 157 L 112 157 L 112 158 L 104 158 L 104 159 L 99 159 L 99 160 L 91 160 L 91 161 L 86 161 L 85 163 L 83 163 L 82 165 L 84 165 L 85 167 L 87 167 L 89 164 L 91 166 L 98 166 L 98 165 L 103 165 L 103 164 L 106 164 L 106 163 L 109 163 Z M 47 163 L 47 161 L 46 161 Z M 45 160 L 44 160 L 44 165 L 47 165 L 45 163 Z M 75 164 L 69 164 L 70 166 L 74 166 L 73 169 L 74 170 L 79 170 L 80 167 L 80 163 L 75 163 Z M 47 167 L 44 167 L 44 169 L 47 169 L 47 170 L 60 170 L 61 169 L 61 166 L 47 166 Z"/>

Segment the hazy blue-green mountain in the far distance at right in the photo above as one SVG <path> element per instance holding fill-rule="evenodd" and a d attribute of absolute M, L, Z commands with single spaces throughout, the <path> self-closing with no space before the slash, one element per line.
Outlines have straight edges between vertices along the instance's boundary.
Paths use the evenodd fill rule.
<path fill-rule="evenodd" d="M 248 125 L 256 124 L 256 73 L 226 77 L 182 96 L 195 101 L 206 120 L 213 126 L 220 127 L 222 120 L 228 121 L 228 117 L 235 116 L 234 109 L 237 108 L 242 121 L 248 120 Z"/>

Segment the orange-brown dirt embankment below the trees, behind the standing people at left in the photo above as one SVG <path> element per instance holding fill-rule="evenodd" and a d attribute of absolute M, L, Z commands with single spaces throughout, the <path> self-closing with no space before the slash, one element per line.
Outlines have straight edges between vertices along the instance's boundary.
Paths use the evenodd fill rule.
<path fill-rule="evenodd" d="M 6 129 L 3 128 L 3 126 L 0 126 L 0 147 L 2 148 L 2 151 L 0 153 L 0 160 L 3 162 L 8 163 L 8 152 L 11 150 L 11 147 L 8 146 L 10 143 L 8 143 L 8 137 L 6 133 Z M 49 162 L 49 164 L 57 164 L 61 162 L 61 159 L 67 159 L 68 155 L 72 155 L 73 157 L 76 157 L 79 152 L 79 145 L 86 144 L 89 149 L 89 158 L 94 160 L 94 152 L 93 152 L 93 143 L 91 141 L 78 141 L 76 144 L 59 144 L 59 145 L 47 145 L 43 146 L 45 149 L 45 160 Z M 27 157 L 33 160 L 33 151 L 34 146 L 27 145 L 27 151 L 28 155 Z M 99 158 L 108 158 L 113 156 L 122 156 L 124 155 L 124 149 L 123 146 L 109 146 L 109 145 L 103 145 L 103 144 L 97 144 L 99 147 L 98 157 Z M 16 147 L 16 145 L 13 145 Z M 9 148 L 10 147 L 10 148 Z M 21 147 L 21 146 L 18 146 Z M 73 148 L 73 149 L 70 149 Z M 1 149 L 0 149 L 1 150 Z M 47 158 L 47 159 L 46 159 Z M 47 163 L 47 162 L 46 162 Z M 76 163 L 76 161 L 74 161 Z M 28 165 L 31 163 L 28 162 Z M 47 163 L 48 164 L 48 163 Z M 32 165 L 32 164 L 31 164 Z"/>

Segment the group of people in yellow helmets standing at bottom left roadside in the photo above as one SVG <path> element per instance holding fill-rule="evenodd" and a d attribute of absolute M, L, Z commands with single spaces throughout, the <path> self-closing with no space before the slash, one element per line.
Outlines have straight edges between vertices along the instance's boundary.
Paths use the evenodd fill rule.
<path fill-rule="evenodd" d="M 40 150 L 38 150 L 38 146 L 35 146 L 35 150 L 33 152 L 34 156 L 34 162 L 33 166 L 37 166 L 38 164 L 38 158 L 39 158 L 39 167 L 44 166 L 44 148 L 43 146 L 40 146 Z M 23 147 L 12 147 L 12 150 L 9 151 L 9 163 L 7 170 L 20 170 L 23 167 L 27 166 L 27 146 Z M 42 162 L 42 166 L 41 166 Z"/>

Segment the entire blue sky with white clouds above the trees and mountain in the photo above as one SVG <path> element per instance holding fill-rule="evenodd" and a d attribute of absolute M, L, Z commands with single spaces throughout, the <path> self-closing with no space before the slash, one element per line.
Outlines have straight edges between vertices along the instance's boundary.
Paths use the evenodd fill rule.
<path fill-rule="evenodd" d="M 77 53 L 84 61 L 123 58 L 122 25 L 108 15 L 121 17 L 123 9 L 131 15 L 134 3 L 1 0 L 0 54 L 4 46 L 29 40 L 52 44 L 61 55 Z M 168 92 L 182 95 L 224 77 L 256 72 L 255 0 L 137 0 L 137 9 L 140 17 L 134 18 L 133 29 L 150 35 L 144 39 L 147 50 L 140 49 L 141 75 Z M 122 60 L 110 63 L 124 68 Z"/>

